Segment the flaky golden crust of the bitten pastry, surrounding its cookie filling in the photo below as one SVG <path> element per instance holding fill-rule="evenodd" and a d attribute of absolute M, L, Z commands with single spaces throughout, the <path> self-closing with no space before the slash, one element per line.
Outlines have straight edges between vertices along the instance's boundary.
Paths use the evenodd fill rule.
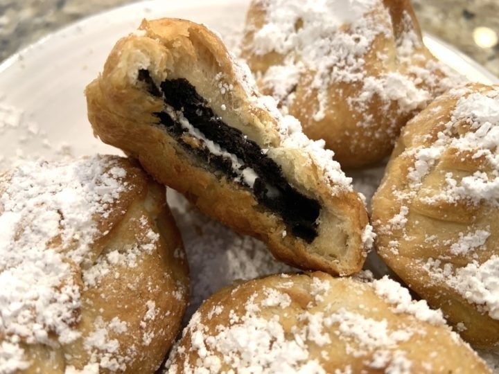
<path fill-rule="evenodd" d="M 317 238 L 307 244 L 286 232 L 281 217 L 256 202 L 249 188 L 209 170 L 177 143 L 155 116 L 164 110 L 163 99 L 148 93 L 137 79 L 139 69 L 147 69 L 157 87 L 166 79 L 186 79 L 216 116 L 268 150 L 290 185 L 321 204 Z M 276 258 L 332 274 L 358 271 L 368 224 L 360 198 L 342 181 L 331 180 L 310 148 L 283 144 L 282 132 L 288 130 L 279 127 L 282 117 L 261 104 L 244 73 L 206 27 L 179 19 L 143 21 L 138 33 L 114 46 L 102 75 L 87 87 L 89 121 L 102 141 L 137 158 L 204 213 L 266 242 Z"/>

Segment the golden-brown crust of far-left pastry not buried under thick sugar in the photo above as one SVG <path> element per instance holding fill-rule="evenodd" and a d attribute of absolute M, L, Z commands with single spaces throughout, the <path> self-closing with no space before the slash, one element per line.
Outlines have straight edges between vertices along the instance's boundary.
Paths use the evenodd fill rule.
<path fill-rule="evenodd" d="M 79 295 L 69 326 L 73 337 L 64 341 L 58 335 L 58 326 L 55 331 L 54 326 L 41 326 L 48 337 L 40 341 L 24 339 L 19 333 L 19 348 L 24 350 L 20 367 L 24 370 L 15 373 L 84 369 L 154 373 L 180 330 L 189 299 L 189 270 L 180 232 L 166 205 L 164 186 L 153 181 L 135 161 L 114 156 L 94 159 L 104 165 L 103 172 L 120 174 L 121 190 L 110 190 L 110 195 L 117 193 L 113 201 L 108 199 L 98 206 L 92 218 L 96 231 L 89 247 L 76 256 L 73 251 L 80 245 L 77 237 L 69 246 L 63 244 L 62 231 L 54 238 L 46 238 L 46 250 L 60 253 L 71 268 L 71 279 L 62 281 L 76 287 L 71 294 Z M 111 178 L 112 172 L 106 178 Z M 8 190 L 11 178 L 10 170 L 0 176 L 1 193 Z M 46 195 L 52 192 L 42 191 Z M 82 206 L 92 208 L 96 207 Z M 60 214 L 64 222 L 64 211 Z M 24 224 L 23 230 L 32 229 L 30 222 Z M 80 234 L 85 236 L 85 231 Z M 13 341 L 8 325 L 6 328 L 0 329 L 0 344 Z M 11 371 L 7 369 L 6 373 Z"/>

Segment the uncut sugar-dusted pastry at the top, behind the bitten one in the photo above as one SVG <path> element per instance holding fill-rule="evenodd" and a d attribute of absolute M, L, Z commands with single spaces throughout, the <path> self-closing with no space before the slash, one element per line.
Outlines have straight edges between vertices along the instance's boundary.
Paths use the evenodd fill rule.
<path fill-rule="evenodd" d="M 388 156 L 401 127 L 462 80 L 424 46 L 408 0 L 253 0 L 242 56 L 343 168 Z"/>

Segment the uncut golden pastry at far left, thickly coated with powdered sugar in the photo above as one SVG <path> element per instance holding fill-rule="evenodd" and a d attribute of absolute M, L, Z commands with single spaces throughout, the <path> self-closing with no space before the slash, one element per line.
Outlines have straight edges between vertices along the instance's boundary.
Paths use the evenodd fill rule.
<path fill-rule="evenodd" d="M 154 373 L 188 278 L 164 186 L 128 159 L 0 175 L 0 373 Z"/>

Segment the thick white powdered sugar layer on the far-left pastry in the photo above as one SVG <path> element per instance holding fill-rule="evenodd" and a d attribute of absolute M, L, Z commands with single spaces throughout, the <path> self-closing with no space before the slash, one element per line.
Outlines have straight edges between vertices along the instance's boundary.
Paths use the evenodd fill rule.
<path fill-rule="evenodd" d="M 96 217 L 106 217 L 125 174 L 94 157 L 23 162 L 0 177 L 2 373 L 26 367 L 19 341 L 67 344 L 79 337 L 71 328 L 80 308 L 76 268 L 89 260 Z"/>

